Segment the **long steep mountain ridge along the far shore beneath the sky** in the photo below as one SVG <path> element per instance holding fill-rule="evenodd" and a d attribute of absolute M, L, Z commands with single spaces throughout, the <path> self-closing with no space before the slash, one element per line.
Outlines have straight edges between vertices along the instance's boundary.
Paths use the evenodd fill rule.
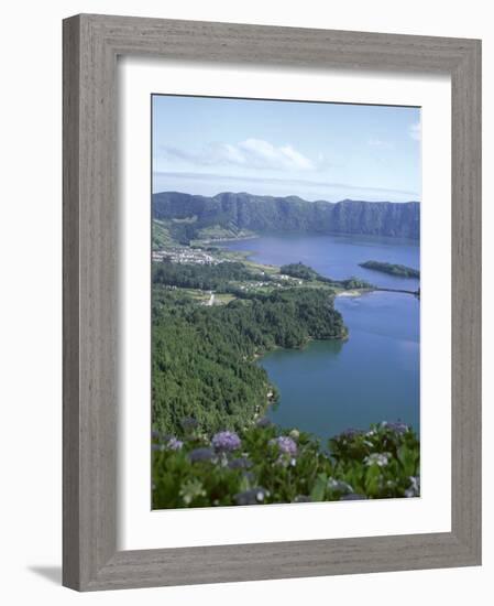
<path fill-rule="evenodd" d="M 174 239 L 235 237 L 241 232 L 360 234 L 418 239 L 417 202 L 307 202 L 297 196 L 272 197 L 221 193 L 213 197 L 162 192 L 153 195 L 153 217 Z"/>

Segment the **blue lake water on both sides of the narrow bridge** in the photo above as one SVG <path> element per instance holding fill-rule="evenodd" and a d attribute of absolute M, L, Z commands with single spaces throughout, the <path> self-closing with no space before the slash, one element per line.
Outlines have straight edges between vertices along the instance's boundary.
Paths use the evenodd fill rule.
<path fill-rule="evenodd" d="M 417 242 L 355 236 L 266 236 L 223 242 L 249 250 L 253 260 L 281 266 L 301 261 L 322 275 L 355 275 L 386 288 L 416 290 L 418 280 L 359 267 L 367 260 L 419 268 Z M 411 424 L 419 431 L 419 310 L 413 295 L 373 292 L 339 296 L 350 336 L 312 342 L 303 350 L 278 349 L 260 364 L 281 393 L 270 418 L 323 440 L 380 421 Z"/>

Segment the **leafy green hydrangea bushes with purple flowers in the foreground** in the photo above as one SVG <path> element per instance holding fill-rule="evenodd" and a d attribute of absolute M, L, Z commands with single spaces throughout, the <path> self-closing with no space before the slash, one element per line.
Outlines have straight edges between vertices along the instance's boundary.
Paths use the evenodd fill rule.
<path fill-rule="evenodd" d="M 241 432 L 153 432 L 153 509 L 417 497 L 419 442 L 403 423 L 312 435 L 257 421 Z"/>

